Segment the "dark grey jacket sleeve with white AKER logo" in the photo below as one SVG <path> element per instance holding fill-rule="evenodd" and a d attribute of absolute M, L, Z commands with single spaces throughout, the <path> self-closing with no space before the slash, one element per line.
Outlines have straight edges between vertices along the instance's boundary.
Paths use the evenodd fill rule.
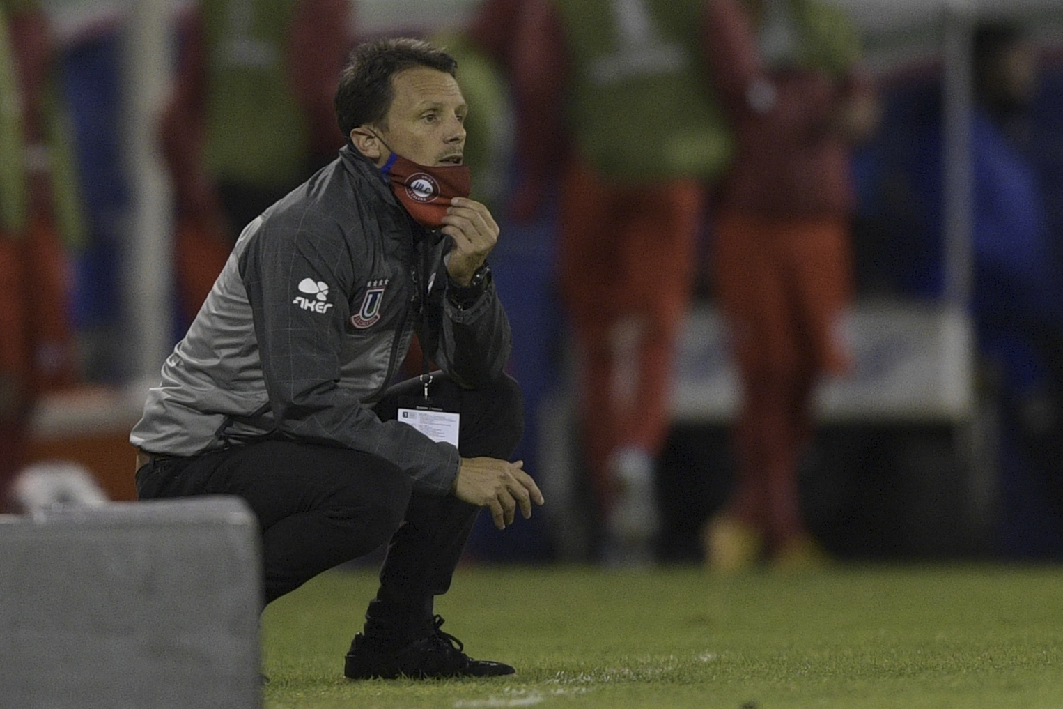
<path fill-rule="evenodd" d="M 267 222 L 264 229 L 244 252 L 240 275 L 277 434 L 379 456 L 411 476 L 415 490 L 446 494 L 458 451 L 396 421 L 379 421 L 340 385 L 350 264 L 358 254 L 348 251 L 339 226 L 308 214 L 298 228 Z"/>

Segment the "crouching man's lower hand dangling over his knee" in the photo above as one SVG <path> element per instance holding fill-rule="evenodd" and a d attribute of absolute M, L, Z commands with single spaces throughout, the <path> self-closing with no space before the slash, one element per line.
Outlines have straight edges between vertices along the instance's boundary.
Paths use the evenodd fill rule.
<path fill-rule="evenodd" d="M 454 495 L 466 502 L 491 508 L 494 526 L 511 525 L 520 506 L 525 520 L 532 516 L 532 502 L 542 505 L 542 493 L 522 467 L 524 461 L 509 463 L 497 458 L 462 458 Z"/>

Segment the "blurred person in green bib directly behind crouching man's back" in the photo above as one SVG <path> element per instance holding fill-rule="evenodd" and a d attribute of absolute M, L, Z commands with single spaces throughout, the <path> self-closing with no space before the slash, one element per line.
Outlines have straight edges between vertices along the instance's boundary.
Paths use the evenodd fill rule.
<path fill-rule="evenodd" d="M 159 138 L 188 319 L 243 227 L 343 145 L 333 96 L 351 27 L 349 0 L 202 0 L 183 18 Z"/>

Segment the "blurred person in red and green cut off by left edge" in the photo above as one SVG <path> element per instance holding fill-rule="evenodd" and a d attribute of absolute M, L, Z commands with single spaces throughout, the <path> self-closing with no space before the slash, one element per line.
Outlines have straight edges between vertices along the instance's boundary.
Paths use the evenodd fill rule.
<path fill-rule="evenodd" d="M 0 0 L 0 507 L 34 400 L 78 379 L 68 248 L 84 238 L 48 17 Z"/>

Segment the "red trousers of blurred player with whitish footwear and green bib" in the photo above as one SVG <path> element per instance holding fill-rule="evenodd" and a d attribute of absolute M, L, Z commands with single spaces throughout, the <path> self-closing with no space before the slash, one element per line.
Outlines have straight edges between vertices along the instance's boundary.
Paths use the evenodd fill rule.
<path fill-rule="evenodd" d="M 575 344 L 588 474 L 603 509 L 609 456 L 652 456 L 668 432 L 675 344 L 690 300 L 704 189 L 619 187 L 574 164 L 561 197 L 561 295 Z"/>

